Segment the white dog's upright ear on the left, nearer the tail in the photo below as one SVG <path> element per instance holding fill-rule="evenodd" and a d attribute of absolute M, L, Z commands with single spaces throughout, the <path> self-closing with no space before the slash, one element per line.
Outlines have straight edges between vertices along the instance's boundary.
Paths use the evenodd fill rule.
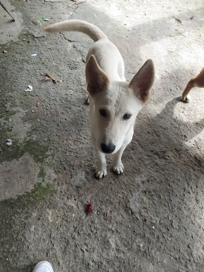
<path fill-rule="evenodd" d="M 99 67 L 94 55 L 91 55 L 86 64 L 87 91 L 90 95 L 97 94 L 103 88 L 108 87 L 109 79 L 106 73 Z"/>

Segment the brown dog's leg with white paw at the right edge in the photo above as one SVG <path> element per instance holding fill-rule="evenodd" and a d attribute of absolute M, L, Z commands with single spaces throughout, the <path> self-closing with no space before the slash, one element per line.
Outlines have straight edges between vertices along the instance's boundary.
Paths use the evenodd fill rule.
<path fill-rule="evenodd" d="M 187 86 L 185 87 L 185 90 L 182 93 L 182 101 L 190 102 L 190 91 L 194 87 L 204 88 L 204 68 L 201 70 L 199 75 L 196 76 L 196 78 L 191 78 L 191 80 L 189 80 Z"/>

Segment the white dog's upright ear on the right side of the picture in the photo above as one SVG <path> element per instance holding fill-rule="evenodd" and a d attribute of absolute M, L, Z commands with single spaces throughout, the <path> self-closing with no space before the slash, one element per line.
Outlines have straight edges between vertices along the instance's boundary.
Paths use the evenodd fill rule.
<path fill-rule="evenodd" d="M 129 88 L 134 91 L 142 103 L 150 98 L 150 89 L 154 84 L 154 76 L 154 64 L 151 59 L 148 59 L 129 84 Z"/>

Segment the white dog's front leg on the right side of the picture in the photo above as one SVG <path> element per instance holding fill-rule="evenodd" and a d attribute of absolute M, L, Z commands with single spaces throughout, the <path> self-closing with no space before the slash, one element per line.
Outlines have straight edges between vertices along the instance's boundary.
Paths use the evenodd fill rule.
<path fill-rule="evenodd" d="M 126 146 L 132 141 L 132 137 L 133 137 L 133 127 L 130 129 L 129 133 L 126 135 L 121 148 L 118 150 L 117 153 L 115 153 L 113 157 L 113 171 L 115 171 L 118 175 L 123 173 L 124 166 L 122 164 L 121 157 Z"/>

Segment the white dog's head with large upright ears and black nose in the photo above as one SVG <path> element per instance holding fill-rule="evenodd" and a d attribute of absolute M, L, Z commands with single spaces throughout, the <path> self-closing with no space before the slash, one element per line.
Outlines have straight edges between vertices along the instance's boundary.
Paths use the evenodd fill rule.
<path fill-rule="evenodd" d="M 87 90 L 94 100 L 95 136 L 99 150 L 116 153 L 142 105 L 150 97 L 154 83 L 154 64 L 148 59 L 130 83 L 110 82 L 91 55 L 86 64 Z"/>

